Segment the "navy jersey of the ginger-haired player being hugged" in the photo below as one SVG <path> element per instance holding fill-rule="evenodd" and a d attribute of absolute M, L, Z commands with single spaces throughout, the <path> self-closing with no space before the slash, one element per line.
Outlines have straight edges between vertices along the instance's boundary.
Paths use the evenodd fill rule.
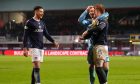
<path fill-rule="evenodd" d="M 92 34 L 94 32 L 96 32 L 96 35 Z M 88 30 L 88 34 L 92 35 L 91 40 L 93 41 L 93 45 L 107 45 L 108 21 L 100 20 L 95 28 Z"/>

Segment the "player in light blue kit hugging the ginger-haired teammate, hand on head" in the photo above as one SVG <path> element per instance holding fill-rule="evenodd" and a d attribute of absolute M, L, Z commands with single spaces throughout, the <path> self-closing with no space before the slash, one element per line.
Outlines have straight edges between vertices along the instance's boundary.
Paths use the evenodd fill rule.
<path fill-rule="evenodd" d="M 90 19 L 87 19 L 87 15 L 90 15 Z M 107 19 L 109 16 L 109 14 L 107 12 L 101 14 L 99 17 L 95 16 L 95 7 L 94 6 L 88 6 L 87 9 L 81 14 L 81 16 L 79 17 L 78 21 L 84 25 L 87 30 L 92 28 L 92 21 L 93 20 L 105 20 Z M 92 38 L 94 38 L 94 36 L 96 36 L 96 32 L 94 31 L 92 33 Z M 87 39 L 90 38 L 89 36 L 91 35 L 86 35 L 84 38 L 81 37 L 80 39 Z M 93 61 L 93 39 L 89 39 L 88 42 L 88 63 L 90 64 L 89 66 L 89 76 L 90 76 L 90 84 L 94 84 L 95 81 L 95 71 L 94 71 L 94 61 Z"/>

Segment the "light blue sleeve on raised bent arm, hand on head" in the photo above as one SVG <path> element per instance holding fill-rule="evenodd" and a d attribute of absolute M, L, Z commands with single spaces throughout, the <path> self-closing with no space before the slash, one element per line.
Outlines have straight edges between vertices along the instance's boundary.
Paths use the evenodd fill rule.
<path fill-rule="evenodd" d="M 80 17 L 78 18 L 78 22 L 80 24 L 82 24 L 83 26 L 86 26 L 89 24 L 89 21 L 86 19 L 86 16 L 87 16 L 88 12 L 87 10 L 85 10 L 81 15 Z"/>

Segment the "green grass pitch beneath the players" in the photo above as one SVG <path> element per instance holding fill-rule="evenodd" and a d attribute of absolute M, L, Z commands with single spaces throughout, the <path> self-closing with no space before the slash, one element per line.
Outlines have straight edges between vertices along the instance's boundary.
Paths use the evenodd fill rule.
<path fill-rule="evenodd" d="M 30 57 L 0 56 L 0 84 L 30 84 L 31 70 Z M 41 82 L 89 84 L 86 57 L 45 57 Z M 109 84 L 140 84 L 140 57 L 111 57 Z"/>

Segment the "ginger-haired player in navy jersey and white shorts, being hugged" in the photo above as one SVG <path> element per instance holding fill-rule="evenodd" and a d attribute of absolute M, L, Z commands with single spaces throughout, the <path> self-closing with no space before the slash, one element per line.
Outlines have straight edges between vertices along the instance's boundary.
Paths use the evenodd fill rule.
<path fill-rule="evenodd" d="M 95 18 L 99 18 L 104 12 L 105 8 L 102 5 L 95 5 Z M 91 36 L 90 38 L 94 45 L 93 62 L 96 67 L 96 73 L 98 75 L 100 84 L 107 84 L 107 75 L 109 69 L 107 46 L 108 21 L 107 19 L 93 19 L 89 27 L 90 29 L 83 33 L 82 38 L 85 38 L 86 36 Z"/>

